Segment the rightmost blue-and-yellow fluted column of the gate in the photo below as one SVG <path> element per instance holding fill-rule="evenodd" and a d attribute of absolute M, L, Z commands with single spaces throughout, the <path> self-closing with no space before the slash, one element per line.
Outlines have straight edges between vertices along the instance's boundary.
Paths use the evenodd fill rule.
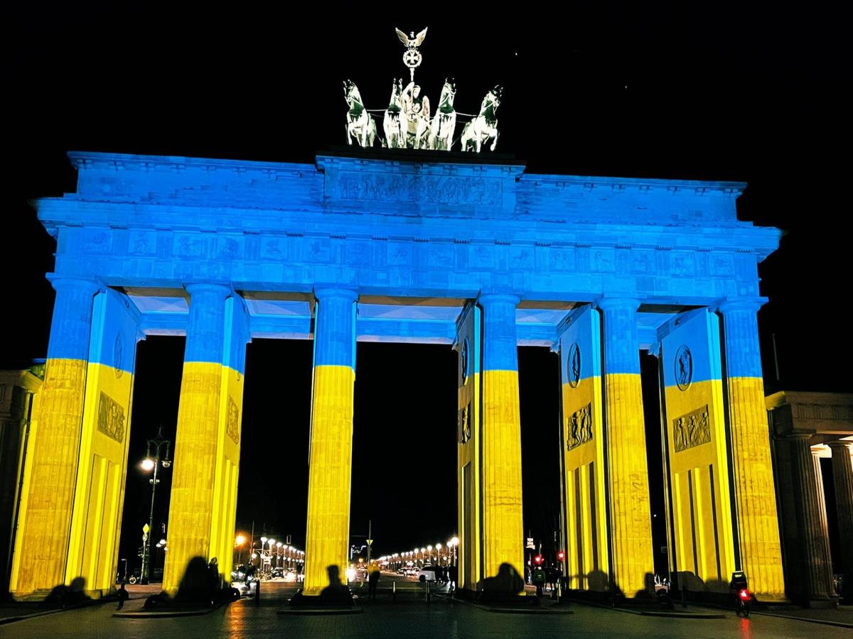
<path fill-rule="evenodd" d="M 759 599 L 783 601 L 785 581 L 758 348 L 756 314 L 761 303 L 733 300 L 718 310 L 723 323 L 740 568 Z"/>

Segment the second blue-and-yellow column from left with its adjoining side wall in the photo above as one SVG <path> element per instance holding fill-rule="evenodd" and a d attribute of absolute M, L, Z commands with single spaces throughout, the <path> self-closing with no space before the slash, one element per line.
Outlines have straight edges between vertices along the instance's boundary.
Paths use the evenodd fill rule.
<path fill-rule="evenodd" d="M 220 573 L 231 564 L 247 342 L 245 313 L 239 299 L 229 299 L 229 286 L 198 283 L 186 290 L 189 322 L 163 575 L 170 591 L 194 557 L 216 557 Z M 230 573 L 222 576 L 230 580 Z"/>

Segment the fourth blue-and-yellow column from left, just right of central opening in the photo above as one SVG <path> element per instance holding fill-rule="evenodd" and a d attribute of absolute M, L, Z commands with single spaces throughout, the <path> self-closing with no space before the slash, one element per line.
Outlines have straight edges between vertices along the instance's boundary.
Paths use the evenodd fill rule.
<path fill-rule="evenodd" d="M 483 308 L 483 539 L 484 574 L 502 563 L 524 576 L 521 509 L 521 417 L 515 307 L 519 298 L 484 295 Z"/>

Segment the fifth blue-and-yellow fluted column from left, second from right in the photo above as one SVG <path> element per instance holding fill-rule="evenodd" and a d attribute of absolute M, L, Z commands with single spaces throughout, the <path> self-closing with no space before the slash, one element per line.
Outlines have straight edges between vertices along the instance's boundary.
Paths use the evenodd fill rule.
<path fill-rule="evenodd" d="M 654 574 L 646 426 L 634 299 L 599 302 L 604 328 L 604 409 L 610 486 L 613 579 L 627 597 L 647 591 Z"/>

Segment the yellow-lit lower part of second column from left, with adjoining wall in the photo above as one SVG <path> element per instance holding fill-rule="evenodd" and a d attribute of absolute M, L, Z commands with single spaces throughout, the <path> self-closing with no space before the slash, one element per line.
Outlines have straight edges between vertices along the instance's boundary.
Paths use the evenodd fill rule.
<path fill-rule="evenodd" d="M 243 376 L 185 362 L 177 415 L 163 590 L 177 591 L 189 561 L 217 559 L 230 581 L 234 554 Z"/>

